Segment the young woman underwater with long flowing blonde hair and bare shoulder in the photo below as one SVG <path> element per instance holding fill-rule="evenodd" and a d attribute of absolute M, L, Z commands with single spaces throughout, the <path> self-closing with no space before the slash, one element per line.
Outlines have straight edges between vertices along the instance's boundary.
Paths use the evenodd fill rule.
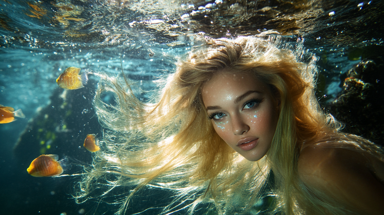
<path fill-rule="evenodd" d="M 105 144 L 76 200 L 131 213 L 132 198 L 153 188 L 173 195 L 161 214 L 201 214 L 201 205 L 248 213 L 265 195 L 277 200 L 272 214 L 383 214 L 381 148 L 339 131 L 314 95 L 316 58 L 302 61 L 302 42 L 283 46 L 273 37 L 207 38 L 150 103 L 128 80 L 99 74 Z M 116 105 L 101 101 L 104 92 Z"/>

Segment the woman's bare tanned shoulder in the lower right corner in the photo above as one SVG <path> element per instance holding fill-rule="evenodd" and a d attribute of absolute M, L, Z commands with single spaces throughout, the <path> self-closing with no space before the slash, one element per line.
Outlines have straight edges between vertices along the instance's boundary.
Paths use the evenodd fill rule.
<path fill-rule="evenodd" d="M 361 214 L 384 214 L 384 185 L 372 172 L 363 154 L 342 148 L 308 146 L 298 159 L 298 174 L 310 189 L 316 189 Z"/>

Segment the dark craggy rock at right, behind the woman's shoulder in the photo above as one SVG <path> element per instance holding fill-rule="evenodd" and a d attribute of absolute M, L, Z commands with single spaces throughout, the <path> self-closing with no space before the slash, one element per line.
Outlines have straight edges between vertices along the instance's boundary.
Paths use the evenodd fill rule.
<path fill-rule="evenodd" d="M 344 132 L 384 144 L 384 61 L 371 57 L 356 64 L 343 80 L 343 91 L 328 104 L 329 112 L 345 123 Z"/>

